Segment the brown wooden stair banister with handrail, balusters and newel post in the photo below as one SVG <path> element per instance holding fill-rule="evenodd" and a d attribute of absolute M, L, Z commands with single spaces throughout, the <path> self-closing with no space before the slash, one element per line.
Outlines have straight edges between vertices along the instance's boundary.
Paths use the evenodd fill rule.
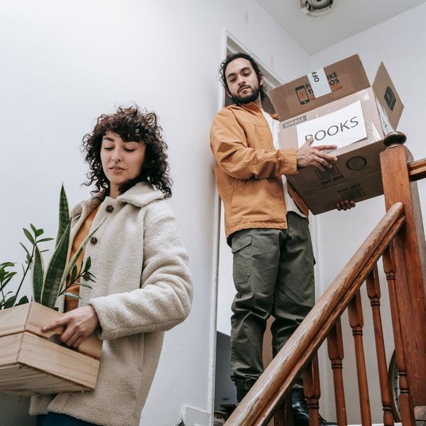
<path fill-rule="evenodd" d="M 325 341 L 334 382 L 335 418 L 339 426 L 347 426 L 341 325 L 345 311 L 354 339 L 359 418 L 362 426 L 372 426 L 363 342 L 363 286 L 373 317 L 383 425 L 426 426 L 426 243 L 416 182 L 426 177 L 426 159 L 413 161 L 403 146 L 403 133 L 390 133 L 384 143 L 388 147 L 381 153 L 385 216 L 226 420 L 226 426 L 266 426 L 272 418 L 275 426 L 292 426 L 289 393 L 300 374 L 310 425 L 319 426 L 317 350 Z M 380 258 L 386 274 L 398 367 L 398 409 L 388 379 L 383 341 Z"/>

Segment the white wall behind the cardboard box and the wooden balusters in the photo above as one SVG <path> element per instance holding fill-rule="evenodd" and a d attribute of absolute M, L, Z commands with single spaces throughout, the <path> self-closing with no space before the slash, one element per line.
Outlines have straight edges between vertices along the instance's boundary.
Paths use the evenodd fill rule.
<path fill-rule="evenodd" d="M 425 121 L 426 87 L 424 84 L 424 70 L 426 67 L 426 4 L 417 6 L 400 16 L 390 19 L 343 40 L 310 58 L 310 69 L 315 70 L 329 63 L 335 62 L 354 53 L 359 53 L 364 63 L 368 78 L 373 82 L 374 75 L 381 60 L 383 60 L 389 74 L 400 94 L 405 110 L 398 129 L 408 136 L 406 146 L 413 153 L 415 160 L 426 157 L 426 146 L 423 131 Z M 426 182 L 419 182 L 420 200 L 425 209 Z M 377 224 L 378 219 L 385 213 L 383 197 L 359 203 L 356 209 L 350 212 L 329 212 L 317 217 L 318 239 L 320 241 L 320 280 L 322 290 L 332 282 L 342 266 L 349 260 L 365 237 Z M 425 218 L 426 213 L 423 214 Z M 381 268 L 381 266 L 379 266 Z M 393 338 L 390 327 L 390 314 L 386 301 L 386 280 L 383 273 L 382 295 L 385 322 L 386 344 L 388 356 L 393 351 Z M 365 294 L 364 294 L 365 296 Z M 368 298 L 364 297 L 364 301 Z M 371 310 L 368 302 L 364 303 L 364 317 L 371 324 Z M 351 390 L 346 388 L 346 409 L 349 422 L 358 422 L 359 410 L 358 394 L 356 390 L 356 373 L 354 367 L 354 349 L 351 342 L 349 326 L 345 327 L 345 383 L 351 383 Z M 371 401 L 373 405 L 373 422 L 381 420 L 381 402 L 378 395 L 378 376 L 376 373 L 374 341 L 370 332 L 366 330 L 364 336 L 367 362 L 370 373 Z M 327 364 L 324 362 L 324 369 Z M 329 368 L 329 363 L 327 368 Z M 323 383 L 323 394 L 332 395 L 329 378 Z M 324 386 L 324 384 L 326 386 Z M 332 403 L 327 411 L 332 413 Z M 328 415 L 328 413 L 327 413 Z"/>

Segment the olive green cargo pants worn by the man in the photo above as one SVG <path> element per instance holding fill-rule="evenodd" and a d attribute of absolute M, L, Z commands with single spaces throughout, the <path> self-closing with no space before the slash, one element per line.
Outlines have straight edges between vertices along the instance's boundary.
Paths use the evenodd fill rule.
<path fill-rule="evenodd" d="M 263 372 L 268 317 L 275 319 L 271 326 L 275 356 L 315 303 L 309 226 L 294 212 L 287 216 L 288 229 L 242 229 L 231 236 L 237 291 L 231 317 L 231 378 L 239 400 Z"/>

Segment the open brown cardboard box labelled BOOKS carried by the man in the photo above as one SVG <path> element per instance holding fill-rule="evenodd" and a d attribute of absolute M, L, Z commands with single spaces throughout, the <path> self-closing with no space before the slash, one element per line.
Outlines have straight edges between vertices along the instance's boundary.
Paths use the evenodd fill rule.
<path fill-rule="evenodd" d="M 306 87 L 317 76 L 319 85 L 315 88 L 313 81 Z M 299 148 L 312 136 L 312 146 L 337 145 L 332 154 L 339 160 L 324 171 L 301 168 L 288 181 L 313 214 L 335 209 L 342 200 L 360 202 L 383 194 L 379 154 L 403 111 L 385 66 L 378 67 L 371 87 L 358 55 L 312 72 L 310 80 L 301 77 L 268 93 L 281 121 L 280 146 Z M 309 96 L 305 103 L 300 102 L 302 85 Z"/>

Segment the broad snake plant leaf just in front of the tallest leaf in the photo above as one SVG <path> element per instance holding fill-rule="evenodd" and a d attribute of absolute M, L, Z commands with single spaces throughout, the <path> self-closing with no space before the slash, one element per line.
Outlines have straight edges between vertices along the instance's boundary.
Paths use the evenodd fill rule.
<path fill-rule="evenodd" d="M 68 224 L 62 232 L 59 243 L 53 252 L 52 258 L 45 273 L 43 290 L 41 292 L 41 304 L 47 307 L 54 307 L 56 298 L 62 283 L 65 266 L 67 265 L 68 248 L 70 245 L 70 227 L 71 222 L 68 219 Z"/>

